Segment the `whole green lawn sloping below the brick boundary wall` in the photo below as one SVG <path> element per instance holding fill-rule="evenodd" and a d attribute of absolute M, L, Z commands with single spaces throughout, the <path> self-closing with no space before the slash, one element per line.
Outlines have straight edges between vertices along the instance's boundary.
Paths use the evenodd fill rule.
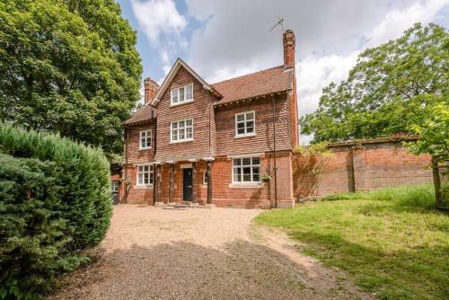
<path fill-rule="evenodd" d="M 305 253 L 381 299 L 448 299 L 449 215 L 433 208 L 432 187 L 351 197 L 270 210 L 256 222 L 285 229 Z"/>

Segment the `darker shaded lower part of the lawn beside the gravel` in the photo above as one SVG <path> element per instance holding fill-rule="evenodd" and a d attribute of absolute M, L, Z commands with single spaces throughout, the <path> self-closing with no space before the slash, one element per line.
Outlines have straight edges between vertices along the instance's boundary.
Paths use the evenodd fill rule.
<path fill-rule="evenodd" d="M 350 230 L 350 229 L 348 229 Z M 303 249 L 325 265 L 352 274 L 357 284 L 377 291 L 383 299 L 447 299 L 449 245 L 426 245 L 413 251 L 368 248 L 346 241 L 340 234 L 291 232 L 307 243 Z M 311 248 L 309 248 L 309 245 Z M 379 292 L 380 291 L 380 292 Z"/>

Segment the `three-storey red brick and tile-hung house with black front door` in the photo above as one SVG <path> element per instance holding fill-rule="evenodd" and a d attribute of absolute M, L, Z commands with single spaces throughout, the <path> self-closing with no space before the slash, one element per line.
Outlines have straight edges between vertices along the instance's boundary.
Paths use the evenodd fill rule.
<path fill-rule="evenodd" d="M 180 58 L 123 123 L 121 203 L 291 207 L 298 143 L 295 34 L 284 65 L 208 84 Z"/>

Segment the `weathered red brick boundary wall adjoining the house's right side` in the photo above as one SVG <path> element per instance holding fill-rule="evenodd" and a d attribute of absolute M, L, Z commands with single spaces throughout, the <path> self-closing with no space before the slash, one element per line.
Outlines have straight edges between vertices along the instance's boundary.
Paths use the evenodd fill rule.
<path fill-rule="evenodd" d="M 403 140 L 404 138 L 383 138 L 332 144 L 328 147 L 330 154 L 324 157 L 295 154 L 295 198 L 432 181 L 432 171 L 428 168 L 430 156 L 409 153 L 408 148 L 402 146 Z M 313 191 L 310 187 L 313 180 L 317 179 L 311 178 L 313 176 L 308 170 L 316 165 L 322 165 L 324 171 L 321 179 L 318 179 L 318 189 Z"/>

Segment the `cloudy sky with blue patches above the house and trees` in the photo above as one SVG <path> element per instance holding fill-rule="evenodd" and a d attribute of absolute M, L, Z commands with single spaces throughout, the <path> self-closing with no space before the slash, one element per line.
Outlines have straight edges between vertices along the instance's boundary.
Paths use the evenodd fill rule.
<path fill-rule="evenodd" d="M 295 32 L 299 115 L 318 107 L 357 55 L 415 22 L 449 28 L 449 0 L 118 0 L 137 31 L 144 77 L 162 83 L 181 57 L 208 83 L 283 64 L 284 19 Z M 311 137 L 300 136 L 301 143 Z"/>

